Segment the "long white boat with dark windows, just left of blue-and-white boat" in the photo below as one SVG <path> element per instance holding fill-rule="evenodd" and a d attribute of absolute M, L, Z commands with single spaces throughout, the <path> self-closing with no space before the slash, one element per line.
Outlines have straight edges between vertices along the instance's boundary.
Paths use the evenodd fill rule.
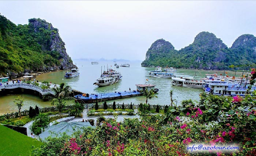
<path fill-rule="evenodd" d="M 192 77 L 173 77 L 172 79 L 172 85 L 189 88 L 202 89 L 202 85 L 205 83 L 204 80 L 195 80 Z"/>

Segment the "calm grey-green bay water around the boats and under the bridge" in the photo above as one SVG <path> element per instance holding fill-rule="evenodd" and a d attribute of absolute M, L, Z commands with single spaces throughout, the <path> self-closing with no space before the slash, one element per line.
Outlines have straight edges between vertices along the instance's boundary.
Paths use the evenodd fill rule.
<path fill-rule="evenodd" d="M 177 100 L 177 104 L 180 104 L 184 99 L 192 99 L 192 100 L 199 100 L 199 94 L 203 92 L 202 89 L 195 89 L 195 88 L 185 88 L 185 87 L 178 87 L 172 86 L 172 79 L 164 79 L 164 78 L 157 78 L 157 77 L 149 77 L 149 71 L 154 70 L 154 68 L 149 67 L 141 67 L 139 61 L 133 62 L 126 62 L 130 64 L 130 67 L 119 67 L 115 69 L 114 62 L 99 62 L 98 65 L 92 65 L 90 61 L 81 61 L 75 60 L 76 65 L 80 69 L 80 76 L 71 78 L 71 79 L 63 79 L 66 71 L 57 71 L 57 72 L 49 72 L 42 75 L 37 76 L 36 80 L 38 81 L 51 81 L 52 83 L 60 84 L 65 83 L 71 88 L 75 90 L 79 90 L 85 93 L 105 93 L 105 92 L 114 92 L 114 91 L 129 91 L 136 90 L 135 84 L 155 84 L 156 87 L 159 89 L 159 92 L 156 94 L 158 98 L 153 98 L 148 100 L 150 104 L 159 104 L 159 105 L 169 105 L 170 104 L 170 90 L 173 90 L 173 98 Z M 125 62 L 117 62 L 117 64 L 121 65 Z M 123 75 L 122 80 L 118 83 L 105 86 L 105 87 L 98 87 L 93 85 L 96 79 L 101 75 L 101 66 L 102 71 L 107 69 L 107 65 L 109 68 L 117 70 L 121 72 Z M 177 77 L 194 77 L 196 70 L 191 69 L 177 69 L 175 75 Z M 210 73 L 218 73 L 224 74 L 224 71 L 210 71 Z M 208 71 L 197 70 L 196 78 L 200 79 L 208 74 Z M 241 75 L 242 72 L 236 72 L 236 76 Z M 234 76 L 235 72 L 228 71 L 228 75 Z M 146 81 L 148 79 L 148 81 Z M 7 95 L 7 96 L 0 96 L 0 114 L 4 113 L 11 113 L 13 111 L 17 111 L 18 108 L 14 105 L 13 100 L 18 95 Z M 23 98 L 25 98 L 24 106 L 22 110 L 29 109 L 30 106 L 35 107 L 49 107 L 51 106 L 49 102 L 44 102 L 38 96 L 23 94 Z M 125 99 L 117 99 L 115 100 L 116 103 L 123 104 L 124 103 L 145 103 L 146 99 L 144 96 L 136 96 L 132 98 L 125 98 Z M 113 103 L 113 101 L 107 101 L 107 103 Z M 68 104 L 71 104 L 70 102 Z"/>

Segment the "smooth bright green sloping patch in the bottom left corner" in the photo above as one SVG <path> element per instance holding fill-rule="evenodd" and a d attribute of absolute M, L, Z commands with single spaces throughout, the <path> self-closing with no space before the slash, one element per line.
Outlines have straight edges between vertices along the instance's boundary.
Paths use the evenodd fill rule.
<path fill-rule="evenodd" d="M 29 156 L 32 146 L 43 143 L 10 128 L 0 125 L 0 156 Z"/>

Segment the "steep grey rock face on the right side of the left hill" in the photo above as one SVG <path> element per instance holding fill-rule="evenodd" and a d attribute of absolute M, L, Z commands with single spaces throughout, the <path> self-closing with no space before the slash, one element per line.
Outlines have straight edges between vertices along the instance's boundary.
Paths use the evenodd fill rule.
<path fill-rule="evenodd" d="M 65 43 L 62 41 L 59 35 L 59 30 L 54 28 L 51 23 L 46 22 L 42 19 L 29 19 L 30 29 L 33 29 L 35 36 L 37 34 L 47 35 L 47 40 L 40 40 L 38 43 L 41 45 L 43 51 L 51 51 L 59 53 L 57 58 L 60 61 L 60 65 L 57 66 L 59 69 L 63 68 L 76 68 L 73 61 L 68 56 L 65 48 Z"/>

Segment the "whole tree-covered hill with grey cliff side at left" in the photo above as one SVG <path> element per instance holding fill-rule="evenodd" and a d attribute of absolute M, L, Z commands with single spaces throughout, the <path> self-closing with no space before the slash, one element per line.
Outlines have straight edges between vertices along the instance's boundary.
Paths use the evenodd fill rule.
<path fill-rule="evenodd" d="M 63 51 L 64 45 L 58 29 L 45 20 L 30 19 L 29 24 L 17 26 L 0 15 L 0 72 L 4 75 L 8 71 L 22 73 L 65 68 L 67 63 L 62 62 L 73 65 Z"/>

